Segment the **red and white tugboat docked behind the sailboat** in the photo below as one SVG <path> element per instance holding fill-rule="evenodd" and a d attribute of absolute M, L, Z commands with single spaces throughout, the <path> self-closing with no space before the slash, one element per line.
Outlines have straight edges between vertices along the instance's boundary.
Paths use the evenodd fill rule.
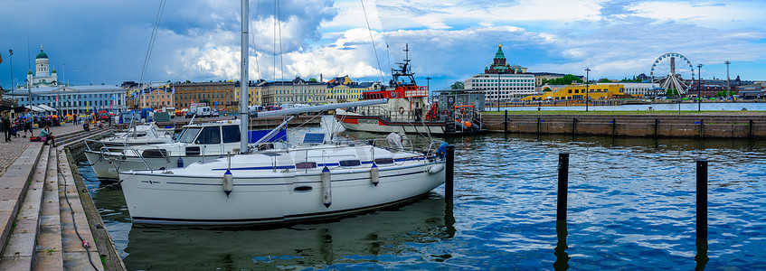
<path fill-rule="evenodd" d="M 415 84 L 409 51 L 405 47 L 404 62 L 396 63 L 398 70 L 392 69 L 389 88 L 363 93 L 363 99 L 388 98 L 388 103 L 337 109 L 338 122 L 348 130 L 384 134 L 469 135 L 482 131 L 480 114 L 473 106 L 440 108 L 436 102 L 429 103 L 429 89 Z"/>

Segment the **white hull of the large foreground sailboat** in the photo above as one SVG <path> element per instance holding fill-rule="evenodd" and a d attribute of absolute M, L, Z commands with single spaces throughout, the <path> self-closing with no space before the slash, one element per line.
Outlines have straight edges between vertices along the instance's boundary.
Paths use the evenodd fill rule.
<path fill-rule="evenodd" d="M 370 168 L 331 170 L 329 206 L 324 204 L 324 186 L 317 172 L 238 177 L 247 173 L 232 171 L 233 188 L 228 195 L 223 192 L 223 173 L 221 177 L 183 178 L 119 174 L 134 223 L 260 224 L 344 216 L 414 199 L 444 182 L 444 170 L 429 172 L 438 164 L 381 168 L 377 185 L 371 182 Z"/>

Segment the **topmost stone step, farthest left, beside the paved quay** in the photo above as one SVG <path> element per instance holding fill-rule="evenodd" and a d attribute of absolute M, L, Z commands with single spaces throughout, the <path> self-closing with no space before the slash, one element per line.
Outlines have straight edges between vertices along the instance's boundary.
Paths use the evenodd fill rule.
<path fill-rule="evenodd" d="M 22 206 L 22 199 L 42 151 L 43 145 L 27 146 L 14 164 L 0 176 L 0 256 L 5 255 L 5 243 L 14 228 L 16 214 Z"/>

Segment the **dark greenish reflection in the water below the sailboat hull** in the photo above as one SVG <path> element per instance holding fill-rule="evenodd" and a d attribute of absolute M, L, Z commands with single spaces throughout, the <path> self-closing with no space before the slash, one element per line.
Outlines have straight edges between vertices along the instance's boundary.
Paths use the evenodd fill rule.
<path fill-rule="evenodd" d="M 350 267 L 395 263 L 420 254 L 419 245 L 454 235 L 445 227 L 438 194 L 394 210 L 329 223 L 277 229 L 172 229 L 133 226 L 125 252 L 128 269 L 261 269 Z M 187 255 L 177 260 L 179 255 Z M 450 257 L 449 255 L 420 257 Z M 343 268 L 345 268 L 343 267 Z"/>

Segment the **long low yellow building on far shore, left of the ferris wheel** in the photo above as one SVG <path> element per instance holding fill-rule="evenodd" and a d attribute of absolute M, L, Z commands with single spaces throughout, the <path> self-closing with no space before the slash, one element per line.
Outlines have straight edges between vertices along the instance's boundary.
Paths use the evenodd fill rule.
<path fill-rule="evenodd" d="M 585 85 L 571 85 L 563 89 L 546 91 L 539 95 L 530 95 L 521 100 L 572 100 L 585 99 Z M 626 97 L 623 85 L 590 85 L 587 89 L 589 99 L 608 99 Z"/>

